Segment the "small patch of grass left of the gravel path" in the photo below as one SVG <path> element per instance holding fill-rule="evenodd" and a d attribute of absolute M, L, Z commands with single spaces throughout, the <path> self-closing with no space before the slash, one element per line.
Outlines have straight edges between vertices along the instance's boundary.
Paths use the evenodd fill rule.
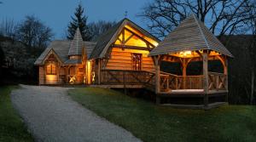
<path fill-rule="evenodd" d="M 10 92 L 17 87 L 0 87 L 0 141 L 33 141 L 10 100 Z"/>

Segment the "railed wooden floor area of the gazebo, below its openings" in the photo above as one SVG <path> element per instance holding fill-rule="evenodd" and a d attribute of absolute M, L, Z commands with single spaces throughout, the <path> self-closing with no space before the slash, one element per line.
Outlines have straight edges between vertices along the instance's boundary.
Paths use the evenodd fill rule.
<path fill-rule="evenodd" d="M 206 92 L 204 89 L 203 75 L 199 76 L 177 76 L 160 71 L 160 93 L 159 94 L 216 94 L 227 93 L 227 81 L 224 73 L 208 71 L 208 84 Z"/>

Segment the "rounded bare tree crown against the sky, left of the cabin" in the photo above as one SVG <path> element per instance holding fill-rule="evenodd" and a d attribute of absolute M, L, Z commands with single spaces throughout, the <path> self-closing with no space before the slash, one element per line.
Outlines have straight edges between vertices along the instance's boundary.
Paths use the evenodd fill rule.
<path fill-rule="evenodd" d="M 20 23 L 18 33 L 18 39 L 29 47 L 45 48 L 53 37 L 51 29 L 33 15 Z"/>

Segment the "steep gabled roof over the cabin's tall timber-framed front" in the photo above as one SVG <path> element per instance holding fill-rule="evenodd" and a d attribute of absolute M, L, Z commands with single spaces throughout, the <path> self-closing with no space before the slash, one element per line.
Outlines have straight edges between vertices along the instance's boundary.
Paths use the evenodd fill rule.
<path fill-rule="evenodd" d="M 132 26 L 137 29 L 137 31 L 142 32 L 145 36 L 154 39 L 156 42 L 160 42 L 157 37 L 151 35 L 148 31 L 145 31 L 142 27 L 137 26 L 131 20 L 124 19 L 120 20 L 115 26 L 110 28 L 108 31 L 103 33 L 97 40 L 96 47 L 93 49 L 90 54 L 90 59 L 103 58 L 108 51 L 108 48 L 118 37 L 119 32 L 125 27 L 125 25 Z"/>

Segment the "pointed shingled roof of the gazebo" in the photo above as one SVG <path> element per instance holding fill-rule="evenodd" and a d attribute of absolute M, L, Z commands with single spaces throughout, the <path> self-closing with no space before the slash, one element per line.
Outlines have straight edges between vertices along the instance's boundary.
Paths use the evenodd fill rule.
<path fill-rule="evenodd" d="M 233 55 L 218 41 L 194 14 L 177 26 L 149 55 L 172 54 L 181 51 L 208 49 L 230 57 Z"/>

